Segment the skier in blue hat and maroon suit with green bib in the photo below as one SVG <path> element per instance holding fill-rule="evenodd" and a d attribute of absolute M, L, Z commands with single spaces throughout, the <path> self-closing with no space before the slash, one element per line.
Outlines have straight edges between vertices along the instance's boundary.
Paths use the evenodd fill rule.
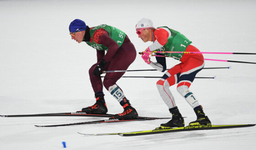
<path fill-rule="evenodd" d="M 127 70 L 135 60 L 136 50 L 128 36 L 123 31 L 109 25 L 98 25 L 90 28 L 79 19 L 70 23 L 69 32 L 72 40 L 76 40 L 78 43 L 84 41 L 97 51 L 97 62 L 89 70 L 96 103 L 83 108 L 81 111 L 86 114 L 107 113 L 103 93 L 104 85 L 124 109 L 123 113 L 116 114 L 114 117 L 119 119 L 137 118 L 137 111 L 131 106 L 129 100 L 123 94 L 123 90 L 116 84 L 124 72 L 106 73 L 103 85 L 100 76 L 103 70 Z"/>

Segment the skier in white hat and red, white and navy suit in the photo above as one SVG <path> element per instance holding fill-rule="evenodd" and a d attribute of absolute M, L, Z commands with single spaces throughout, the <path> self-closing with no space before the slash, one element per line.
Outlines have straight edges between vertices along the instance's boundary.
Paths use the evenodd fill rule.
<path fill-rule="evenodd" d="M 153 22 L 150 19 L 141 19 L 136 25 L 136 33 L 144 42 L 152 41 L 150 45 L 142 54 L 142 59 L 156 70 L 164 72 L 166 70 L 165 57 L 156 57 L 157 62 L 150 60 L 152 51 L 196 51 L 199 50 L 190 45 L 192 42 L 184 35 L 176 30 L 172 30 L 167 26 L 154 28 Z M 157 53 L 157 55 L 162 55 Z M 161 128 L 183 127 L 185 125 L 184 119 L 176 106 L 173 95 L 171 94 L 170 86 L 177 84 L 177 91 L 183 96 L 189 105 L 194 109 L 197 120 L 192 121 L 189 125 L 211 125 L 211 121 L 204 114 L 203 108 L 199 105 L 196 96 L 189 90 L 190 85 L 195 79 L 196 74 L 203 69 L 204 58 L 202 54 L 183 54 L 183 53 L 165 53 L 166 56 L 181 61 L 180 64 L 175 65 L 170 70 L 165 72 L 160 80 L 157 81 L 156 86 L 161 98 L 168 106 L 172 119 L 161 124 Z"/>

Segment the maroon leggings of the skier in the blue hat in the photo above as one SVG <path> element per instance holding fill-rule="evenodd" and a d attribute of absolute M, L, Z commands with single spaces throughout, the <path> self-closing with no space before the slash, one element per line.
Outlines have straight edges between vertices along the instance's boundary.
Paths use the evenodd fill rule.
<path fill-rule="evenodd" d="M 113 59 L 107 63 L 103 70 L 127 70 L 129 65 L 133 63 L 136 58 L 136 50 L 134 45 L 129 40 L 128 36 L 125 37 L 123 45 L 118 48 L 116 54 Z M 91 86 L 94 92 L 102 91 L 102 80 L 100 75 L 93 75 L 92 72 L 98 63 L 91 66 L 89 70 Z M 116 84 L 117 80 L 119 80 L 125 72 L 112 72 L 106 73 L 103 85 L 108 90 L 108 88 L 114 84 Z M 120 88 L 121 89 L 121 88 Z"/>

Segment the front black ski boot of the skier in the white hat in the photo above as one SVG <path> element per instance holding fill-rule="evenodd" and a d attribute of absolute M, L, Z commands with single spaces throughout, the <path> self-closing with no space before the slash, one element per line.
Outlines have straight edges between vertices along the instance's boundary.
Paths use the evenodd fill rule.
<path fill-rule="evenodd" d="M 176 106 L 174 108 L 171 108 L 169 109 L 169 111 L 171 112 L 172 119 L 165 124 L 161 124 L 158 129 L 172 129 L 175 127 L 184 127 L 185 126 L 184 119 L 181 116 L 181 113 L 178 110 L 178 107 Z"/>

